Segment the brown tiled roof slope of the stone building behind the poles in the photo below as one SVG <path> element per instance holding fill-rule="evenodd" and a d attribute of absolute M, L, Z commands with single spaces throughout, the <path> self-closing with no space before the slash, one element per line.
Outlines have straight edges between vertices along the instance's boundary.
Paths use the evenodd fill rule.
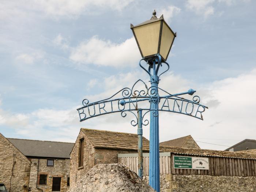
<path fill-rule="evenodd" d="M 97 129 L 81 128 L 95 148 L 138 150 L 138 135 Z M 143 150 L 149 151 L 149 140 L 143 137 Z"/>

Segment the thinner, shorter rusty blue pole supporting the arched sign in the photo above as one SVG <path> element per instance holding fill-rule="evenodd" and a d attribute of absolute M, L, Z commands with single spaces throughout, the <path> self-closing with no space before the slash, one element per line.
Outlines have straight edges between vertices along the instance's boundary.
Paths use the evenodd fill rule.
<path fill-rule="evenodd" d="M 138 175 L 143 177 L 142 109 L 138 109 Z"/>

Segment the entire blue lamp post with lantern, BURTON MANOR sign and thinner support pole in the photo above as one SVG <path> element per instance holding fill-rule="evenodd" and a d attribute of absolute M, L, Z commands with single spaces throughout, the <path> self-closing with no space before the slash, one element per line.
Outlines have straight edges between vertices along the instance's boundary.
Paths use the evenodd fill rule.
<path fill-rule="evenodd" d="M 126 117 L 128 112 L 135 116 L 135 120 L 131 121 L 131 125 L 133 127 L 138 125 L 138 174 L 141 178 L 143 176 L 142 125 L 149 124 L 149 121 L 144 119 L 144 116 L 150 112 L 149 184 L 155 191 L 159 192 L 159 111 L 180 113 L 203 120 L 202 113 L 208 107 L 200 103 L 200 97 L 197 95 L 193 96 L 192 100 L 179 97 L 186 94 L 193 95 L 196 92 L 193 89 L 182 93 L 170 94 L 158 87 L 159 77 L 169 70 L 169 64 L 166 63 L 166 60 L 176 33 L 167 25 L 163 15 L 160 18 L 155 15 L 156 12 L 154 11 L 150 20 L 136 26 L 131 24 L 142 60 L 147 62 L 148 69 L 142 66 L 142 60 L 140 60 L 139 65 L 150 76 L 151 87 L 148 87 L 143 80 L 139 79 L 131 88 L 125 87 L 106 99 L 91 103 L 88 99 L 83 99 L 83 106 L 77 110 L 80 122 L 117 112 L 120 112 L 122 117 Z M 158 74 L 159 68 L 163 64 L 167 65 L 167 69 Z M 142 85 L 142 89 L 135 89 L 138 83 Z M 158 92 L 158 90 L 161 90 L 161 92 Z M 165 95 L 162 96 L 162 93 Z M 163 99 L 161 100 L 163 102 L 160 103 L 159 108 L 160 99 Z M 149 101 L 150 108 L 138 107 L 138 103 L 142 101 Z M 136 111 L 137 115 L 133 111 Z M 144 114 L 142 113 L 143 111 L 145 112 Z"/>

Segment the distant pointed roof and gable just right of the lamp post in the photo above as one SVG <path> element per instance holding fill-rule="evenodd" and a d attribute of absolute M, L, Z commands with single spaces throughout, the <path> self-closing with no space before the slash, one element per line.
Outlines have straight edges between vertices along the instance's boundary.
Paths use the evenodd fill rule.
<path fill-rule="evenodd" d="M 161 142 L 160 146 L 200 149 L 191 135 Z"/>

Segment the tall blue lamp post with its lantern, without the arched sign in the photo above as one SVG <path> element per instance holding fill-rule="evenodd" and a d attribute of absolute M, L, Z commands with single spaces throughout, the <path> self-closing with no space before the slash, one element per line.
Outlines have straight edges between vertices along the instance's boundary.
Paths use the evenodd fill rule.
<path fill-rule="evenodd" d="M 153 16 L 139 25 L 131 24 L 133 35 L 140 50 L 142 58 L 148 63 L 151 87 L 153 87 L 154 96 L 150 99 L 150 154 L 149 154 L 149 184 L 160 191 L 160 169 L 159 169 L 159 116 L 155 115 L 154 110 L 158 110 L 158 69 L 165 62 L 169 55 L 170 49 L 176 33 L 167 25 L 163 19 L 156 17 L 154 10 Z M 141 66 L 142 67 L 142 66 Z M 160 74 L 161 75 L 161 74 Z"/>

